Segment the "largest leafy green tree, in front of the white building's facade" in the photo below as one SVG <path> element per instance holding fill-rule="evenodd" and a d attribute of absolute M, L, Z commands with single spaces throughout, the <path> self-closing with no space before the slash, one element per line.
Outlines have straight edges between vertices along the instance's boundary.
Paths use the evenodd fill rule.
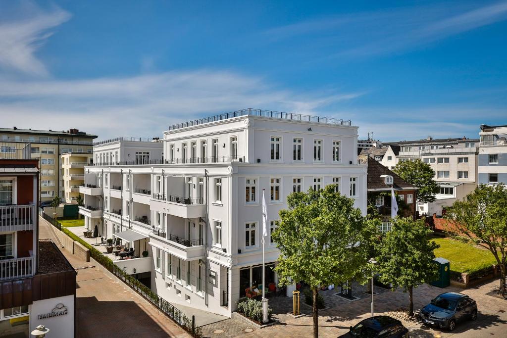
<path fill-rule="evenodd" d="M 352 279 L 364 280 L 366 245 L 372 232 L 354 200 L 335 192 L 334 185 L 287 197 L 280 224 L 272 234 L 280 250 L 275 270 L 281 285 L 305 281 L 313 293 L 313 336 L 318 337 L 318 289 Z"/>

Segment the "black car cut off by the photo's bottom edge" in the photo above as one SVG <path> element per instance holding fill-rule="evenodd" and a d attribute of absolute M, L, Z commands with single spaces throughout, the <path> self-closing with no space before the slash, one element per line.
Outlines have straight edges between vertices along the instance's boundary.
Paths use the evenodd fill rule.
<path fill-rule="evenodd" d="M 409 330 L 401 321 L 389 316 L 375 316 L 360 321 L 354 327 L 350 326 L 350 331 L 340 337 L 407 338 L 408 336 Z"/>

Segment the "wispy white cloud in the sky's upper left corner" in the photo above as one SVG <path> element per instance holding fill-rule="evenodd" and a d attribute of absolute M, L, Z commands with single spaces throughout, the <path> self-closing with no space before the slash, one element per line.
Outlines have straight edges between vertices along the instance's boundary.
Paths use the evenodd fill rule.
<path fill-rule="evenodd" d="M 0 67 L 46 76 L 46 66 L 35 52 L 51 36 L 51 29 L 70 19 L 70 14 L 58 7 L 42 10 L 31 3 L 23 3 L 22 9 L 14 18 L 0 11 Z"/>

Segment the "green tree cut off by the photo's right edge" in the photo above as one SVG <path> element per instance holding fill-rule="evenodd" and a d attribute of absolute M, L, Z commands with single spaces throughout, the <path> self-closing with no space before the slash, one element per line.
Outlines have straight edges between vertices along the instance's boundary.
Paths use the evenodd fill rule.
<path fill-rule="evenodd" d="M 505 287 L 507 260 L 507 187 L 480 184 L 463 200 L 446 208 L 446 230 L 467 237 L 491 251 L 500 268 L 500 290 Z"/>

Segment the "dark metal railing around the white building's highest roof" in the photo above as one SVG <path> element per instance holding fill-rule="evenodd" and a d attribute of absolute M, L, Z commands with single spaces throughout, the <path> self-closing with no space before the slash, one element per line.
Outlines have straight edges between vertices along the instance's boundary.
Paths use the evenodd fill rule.
<path fill-rule="evenodd" d="M 198 126 L 204 123 L 222 121 L 226 119 L 232 119 L 240 116 L 260 116 L 281 120 L 292 120 L 292 121 L 304 121 L 304 122 L 313 122 L 313 123 L 325 123 L 325 124 L 334 124 L 341 126 L 350 126 L 350 120 L 341 120 L 335 118 L 323 118 L 319 116 L 312 115 L 302 115 L 295 114 L 292 112 L 282 112 L 282 111 L 273 111 L 273 110 L 264 110 L 264 109 L 254 109 L 247 108 L 236 110 L 232 112 L 226 112 L 225 114 L 215 115 L 204 119 L 193 120 L 185 123 L 175 124 L 169 127 L 169 130 L 175 130 L 180 128 Z"/>

